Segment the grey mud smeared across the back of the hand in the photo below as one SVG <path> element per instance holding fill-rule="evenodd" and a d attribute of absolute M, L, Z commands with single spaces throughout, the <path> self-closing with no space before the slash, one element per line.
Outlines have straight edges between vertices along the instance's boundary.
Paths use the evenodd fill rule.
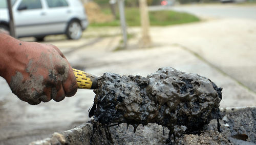
<path fill-rule="evenodd" d="M 58 65 L 55 60 L 61 60 Z M 40 74 L 41 70 L 47 70 L 44 77 Z M 39 59 L 35 61 L 30 59 L 25 69 L 26 72 L 16 72 L 12 76 L 10 88 L 19 99 L 36 105 L 41 101 L 48 102 L 49 97 L 45 90 L 51 88 L 51 98 L 58 101 L 57 93 L 61 89 L 61 84 L 68 78 L 69 66 L 60 55 L 54 55 L 49 51 L 48 53 L 41 53 Z M 23 74 L 27 74 L 25 79 Z M 63 98 L 63 97 L 61 97 Z"/>

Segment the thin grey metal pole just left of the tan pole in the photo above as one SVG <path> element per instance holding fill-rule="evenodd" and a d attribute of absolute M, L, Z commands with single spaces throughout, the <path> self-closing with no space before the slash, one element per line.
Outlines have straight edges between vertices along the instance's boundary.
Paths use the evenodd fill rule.
<path fill-rule="evenodd" d="M 120 15 L 120 23 L 123 33 L 123 45 L 124 48 L 127 46 L 127 32 L 126 32 L 126 23 L 125 23 L 125 16 L 124 16 L 124 0 L 118 0 L 118 7 L 119 7 L 119 15 Z"/>

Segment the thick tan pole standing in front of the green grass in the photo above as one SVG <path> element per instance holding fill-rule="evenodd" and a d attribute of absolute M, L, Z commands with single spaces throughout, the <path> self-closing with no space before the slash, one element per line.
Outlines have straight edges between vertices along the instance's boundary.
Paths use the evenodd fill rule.
<path fill-rule="evenodd" d="M 148 47 L 151 45 L 151 38 L 149 34 L 150 20 L 148 18 L 147 2 L 146 0 L 139 0 L 140 5 L 140 21 L 142 37 L 140 40 L 140 47 Z"/>

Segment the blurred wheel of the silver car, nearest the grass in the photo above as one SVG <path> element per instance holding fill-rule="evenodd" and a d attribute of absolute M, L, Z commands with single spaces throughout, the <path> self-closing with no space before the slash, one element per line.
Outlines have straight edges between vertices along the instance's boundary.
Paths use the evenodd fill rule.
<path fill-rule="evenodd" d="M 66 35 L 69 39 L 80 39 L 82 36 L 82 27 L 78 21 L 71 21 L 68 24 Z"/>

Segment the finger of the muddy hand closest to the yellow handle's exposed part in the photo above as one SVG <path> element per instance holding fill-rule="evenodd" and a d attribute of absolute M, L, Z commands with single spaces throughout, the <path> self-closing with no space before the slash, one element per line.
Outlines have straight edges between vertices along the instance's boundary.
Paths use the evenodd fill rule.
<path fill-rule="evenodd" d="M 77 82 L 76 82 L 76 77 L 73 73 L 73 70 L 71 66 L 69 66 L 69 74 L 68 77 L 65 81 L 63 81 L 62 86 L 63 89 L 65 90 L 65 94 L 67 97 L 74 96 L 77 92 Z"/>

